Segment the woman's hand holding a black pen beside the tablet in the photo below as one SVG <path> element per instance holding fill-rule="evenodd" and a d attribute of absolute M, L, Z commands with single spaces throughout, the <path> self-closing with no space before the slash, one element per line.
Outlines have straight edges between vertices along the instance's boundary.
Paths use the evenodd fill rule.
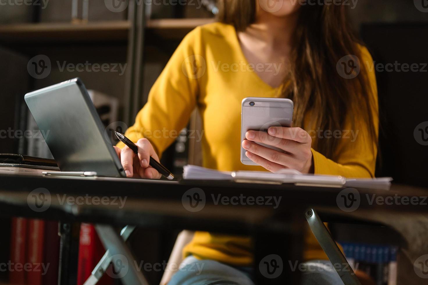
<path fill-rule="evenodd" d="M 159 179 L 162 175 L 149 165 L 150 157 L 159 162 L 158 154 L 152 144 L 147 139 L 140 139 L 136 145 L 138 154 L 135 154 L 127 145 L 122 149 L 113 146 L 125 170 L 126 177 Z"/>

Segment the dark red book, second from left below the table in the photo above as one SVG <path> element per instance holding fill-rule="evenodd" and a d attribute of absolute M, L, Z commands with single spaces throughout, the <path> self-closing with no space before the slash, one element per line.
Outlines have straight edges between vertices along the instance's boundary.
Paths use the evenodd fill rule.
<path fill-rule="evenodd" d="M 42 274 L 49 269 L 42 264 L 43 245 L 45 240 L 45 221 L 31 219 L 28 221 L 28 262 L 31 270 L 27 272 L 27 284 L 42 285 Z"/>

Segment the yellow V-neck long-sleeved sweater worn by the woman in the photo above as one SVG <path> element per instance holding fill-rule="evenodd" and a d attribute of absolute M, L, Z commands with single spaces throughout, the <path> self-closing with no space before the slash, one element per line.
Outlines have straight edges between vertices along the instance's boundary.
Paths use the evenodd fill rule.
<path fill-rule="evenodd" d="M 363 62 L 372 61 L 365 48 L 363 57 Z M 370 80 L 376 95 L 373 111 L 377 114 L 374 72 Z M 197 27 L 183 39 L 152 86 L 147 104 L 126 136 L 134 142 L 146 137 L 161 154 L 174 141 L 176 132 L 185 127 L 192 110 L 198 107 L 204 131 L 203 166 L 226 171 L 263 171 L 261 166 L 244 165 L 240 160 L 241 101 L 246 97 L 280 96 L 280 88 L 266 84 L 249 67 L 235 28 L 221 23 L 208 24 Z M 377 117 L 375 120 L 377 123 Z M 352 134 L 342 139 L 336 162 L 312 149 L 315 174 L 374 176 L 374 142 L 365 136 L 365 129 L 364 125 L 348 128 L 360 131 L 356 139 Z M 250 238 L 208 232 L 196 232 L 184 255 L 235 265 L 249 265 L 253 261 Z M 326 258 L 312 233 L 306 235 L 304 258 Z"/>

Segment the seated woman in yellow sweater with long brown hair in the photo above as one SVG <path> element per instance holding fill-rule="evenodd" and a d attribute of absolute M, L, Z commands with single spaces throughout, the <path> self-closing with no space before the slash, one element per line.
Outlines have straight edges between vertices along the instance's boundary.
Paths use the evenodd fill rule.
<path fill-rule="evenodd" d="M 366 68 L 371 56 L 351 34 L 346 6 L 309 3 L 219 1 L 220 22 L 183 39 L 126 131 L 138 155 L 123 144 L 116 148 L 127 175 L 160 178 L 149 155 L 158 160 L 173 138 L 150 134 L 180 130 L 198 107 L 205 167 L 373 177 L 378 118 L 375 75 Z M 256 144 L 266 139 L 260 132 L 247 132 L 241 142 L 241 101 L 250 96 L 294 101 L 294 128 L 268 131 L 285 152 Z M 260 166 L 241 163 L 241 145 Z M 214 275 L 179 272 L 170 284 L 252 284 L 250 244 L 250 238 L 197 232 L 185 262 L 204 260 Z M 327 259 L 317 245 L 308 234 L 305 260 Z"/>

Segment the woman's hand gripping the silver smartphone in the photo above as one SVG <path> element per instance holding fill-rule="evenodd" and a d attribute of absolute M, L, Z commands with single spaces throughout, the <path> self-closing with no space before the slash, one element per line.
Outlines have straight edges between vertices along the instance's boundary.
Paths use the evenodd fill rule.
<path fill-rule="evenodd" d="M 247 131 L 247 140 L 242 147 L 247 150 L 245 155 L 255 163 L 271 172 L 291 168 L 302 173 L 313 173 L 312 138 L 301 128 L 270 127 L 268 133 L 263 131 Z M 267 148 L 258 143 L 272 145 L 285 152 Z"/>

